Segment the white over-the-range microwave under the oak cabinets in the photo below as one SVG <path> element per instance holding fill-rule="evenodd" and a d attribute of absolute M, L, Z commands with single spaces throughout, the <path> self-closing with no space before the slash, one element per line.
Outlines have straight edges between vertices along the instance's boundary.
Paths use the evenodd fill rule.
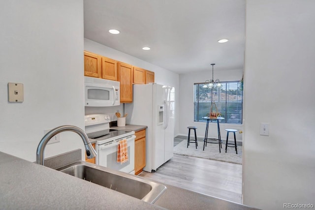
<path fill-rule="evenodd" d="M 85 76 L 84 103 L 95 107 L 120 105 L 120 82 Z"/>

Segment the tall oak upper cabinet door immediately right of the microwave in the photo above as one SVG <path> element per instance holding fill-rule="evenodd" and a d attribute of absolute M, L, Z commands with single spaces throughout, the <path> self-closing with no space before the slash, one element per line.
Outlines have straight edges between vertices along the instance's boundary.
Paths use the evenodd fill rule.
<path fill-rule="evenodd" d="M 118 81 L 120 82 L 120 102 L 131 103 L 133 78 L 132 65 L 123 62 L 117 62 L 117 70 Z"/>

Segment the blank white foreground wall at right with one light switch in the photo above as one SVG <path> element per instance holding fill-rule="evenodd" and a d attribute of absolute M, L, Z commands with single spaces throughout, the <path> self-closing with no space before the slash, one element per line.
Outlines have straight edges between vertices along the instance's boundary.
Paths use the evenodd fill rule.
<path fill-rule="evenodd" d="M 246 3 L 245 205 L 315 205 L 314 11 L 314 0 Z"/>

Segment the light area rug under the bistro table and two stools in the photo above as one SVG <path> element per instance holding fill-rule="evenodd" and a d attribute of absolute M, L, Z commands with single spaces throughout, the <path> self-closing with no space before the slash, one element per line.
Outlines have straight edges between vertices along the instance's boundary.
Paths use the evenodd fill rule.
<path fill-rule="evenodd" d="M 225 141 L 224 141 L 225 142 Z M 181 143 L 174 147 L 174 154 L 182 154 L 193 157 L 201 157 L 212 160 L 219 160 L 223 162 L 242 164 L 242 146 L 237 147 L 237 153 L 235 148 L 227 147 L 225 153 L 225 144 L 222 143 L 221 153 L 219 152 L 218 144 L 207 144 L 203 151 L 203 141 L 198 141 L 198 147 L 196 149 L 194 143 L 190 143 L 187 148 L 187 140 L 183 140 Z"/>

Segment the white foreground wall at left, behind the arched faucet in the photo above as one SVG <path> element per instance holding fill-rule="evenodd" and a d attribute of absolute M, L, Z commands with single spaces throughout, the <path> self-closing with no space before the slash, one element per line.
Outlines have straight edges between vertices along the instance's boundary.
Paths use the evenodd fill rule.
<path fill-rule="evenodd" d="M 0 28 L 0 151 L 35 161 L 44 129 L 84 128 L 83 0 L 1 1 Z M 24 84 L 24 102 L 8 102 L 9 82 Z M 78 148 L 65 132 L 45 157 Z"/>

